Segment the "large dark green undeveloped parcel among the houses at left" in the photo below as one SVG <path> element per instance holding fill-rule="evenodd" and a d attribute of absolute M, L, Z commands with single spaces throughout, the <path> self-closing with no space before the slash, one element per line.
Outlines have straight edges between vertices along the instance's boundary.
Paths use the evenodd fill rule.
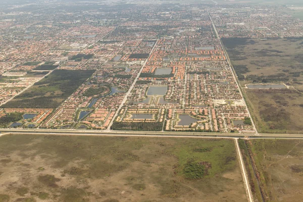
<path fill-rule="evenodd" d="M 93 72 L 93 70 L 55 70 L 2 107 L 57 108 Z"/>

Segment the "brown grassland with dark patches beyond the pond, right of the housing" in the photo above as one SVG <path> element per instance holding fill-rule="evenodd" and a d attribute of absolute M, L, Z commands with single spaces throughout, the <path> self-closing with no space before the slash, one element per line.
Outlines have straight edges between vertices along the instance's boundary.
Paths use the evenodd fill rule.
<path fill-rule="evenodd" d="M 303 92 L 303 39 L 222 39 L 242 86 L 286 83 Z"/>

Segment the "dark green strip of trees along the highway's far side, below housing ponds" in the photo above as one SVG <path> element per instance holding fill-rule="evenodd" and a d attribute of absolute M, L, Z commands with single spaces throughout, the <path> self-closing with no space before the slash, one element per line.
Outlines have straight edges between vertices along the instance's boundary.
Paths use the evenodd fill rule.
<path fill-rule="evenodd" d="M 163 122 L 114 122 L 113 130 L 161 131 Z"/>

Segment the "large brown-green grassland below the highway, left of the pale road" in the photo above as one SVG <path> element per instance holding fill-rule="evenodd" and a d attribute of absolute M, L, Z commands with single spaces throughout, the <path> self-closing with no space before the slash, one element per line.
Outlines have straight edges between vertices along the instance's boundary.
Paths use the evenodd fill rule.
<path fill-rule="evenodd" d="M 0 201 L 247 201 L 229 139 L 0 140 Z"/>

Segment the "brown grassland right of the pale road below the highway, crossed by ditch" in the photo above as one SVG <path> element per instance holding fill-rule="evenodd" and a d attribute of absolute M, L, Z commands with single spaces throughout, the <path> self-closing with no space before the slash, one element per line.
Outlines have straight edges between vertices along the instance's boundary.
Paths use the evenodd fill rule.
<path fill-rule="evenodd" d="M 240 139 L 239 145 L 255 201 L 302 201 L 302 140 Z"/>

